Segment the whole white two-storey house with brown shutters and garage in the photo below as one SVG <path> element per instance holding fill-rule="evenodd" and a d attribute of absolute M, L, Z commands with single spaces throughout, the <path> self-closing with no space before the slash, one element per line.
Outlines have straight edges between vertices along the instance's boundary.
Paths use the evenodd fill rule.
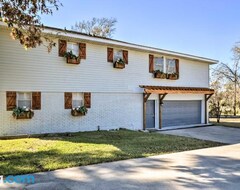
<path fill-rule="evenodd" d="M 57 43 L 51 53 L 44 46 L 24 50 L 0 26 L 0 136 L 208 122 L 209 65 L 216 60 L 51 27 L 45 32 Z M 79 55 L 80 64 L 68 64 L 66 51 Z M 119 58 L 125 64 L 115 65 Z M 71 114 L 83 105 L 87 114 Z M 30 107 L 34 116 L 16 119 L 15 107 Z"/>

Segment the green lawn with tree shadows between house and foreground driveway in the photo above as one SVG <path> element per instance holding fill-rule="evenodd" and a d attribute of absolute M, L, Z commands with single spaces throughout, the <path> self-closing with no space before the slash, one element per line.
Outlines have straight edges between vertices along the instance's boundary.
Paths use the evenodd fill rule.
<path fill-rule="evenodd" d="M 185 137 L 127 130 L 0 140 L 0 174 L 50 171 L 220 145 Z"/>

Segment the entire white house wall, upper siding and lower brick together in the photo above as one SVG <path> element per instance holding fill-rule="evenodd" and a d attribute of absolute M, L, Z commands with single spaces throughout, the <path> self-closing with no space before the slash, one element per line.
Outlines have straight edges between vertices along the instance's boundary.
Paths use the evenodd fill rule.
<path fill-rule="evenodd" d="M 128 51 L 129 64 L 123 70 L 114 69 L 107 62 L 107 46 L 90 43 L 87 59 L 81 60 L 80 65 L 69 65 L 65 58 L 58 57 L 58 47 L 50 54 L 45 47 L 26 51 L 9 37 L 9 32 L 1 29 L 0 136 L 89 131 L 98 126 L 103 130 L 142 129 L 139 85 L 209 86 L 207 63 L 180 58 L 179 80 L 154 79 L 148 72 L 149 53 Z M 16 120 L 11 111 L 6 111 L 6 91 L 41 91 L 42 109 L 35 110 L 31 120 Z M 72 117 L 70 110 L 64 109 L 64 92 L 92 92 L 88 114 Z M 158 96 L 150 98 L 158 103 Z M 167 95 L 168 99 L 203 100 L 203 95 Z M 158 128 L 157 125 L 158 120 Z"/>

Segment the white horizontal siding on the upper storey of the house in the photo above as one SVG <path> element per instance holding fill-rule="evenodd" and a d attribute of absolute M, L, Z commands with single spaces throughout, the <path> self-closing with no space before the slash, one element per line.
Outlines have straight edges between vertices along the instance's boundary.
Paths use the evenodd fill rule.
<path fill-rule="evenodd" d="M 24 50 L 9 33 L 0 31 L 0 91 L 91 91 L 140 92 L 139 85 L 208 87 L 209 65 L 180 59 L 180 79 L 154 79 L 148 72 L 147 52 L 129 50 L 123 70 L 107 62 L 107 46 L 87 43 L 87 59 L 80 65 L 66 64 L 58 47 Z"/>

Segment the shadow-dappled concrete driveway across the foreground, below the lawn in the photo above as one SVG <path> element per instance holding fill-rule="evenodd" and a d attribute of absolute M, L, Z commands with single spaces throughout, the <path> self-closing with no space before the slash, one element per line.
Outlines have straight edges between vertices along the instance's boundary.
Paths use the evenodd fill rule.
<path fill-rule="evenodd" d="M 240 144 L 34 174 L 32 190 L 239 189 Z M 0 189 L 10 189 L 0 185 Z"/>

